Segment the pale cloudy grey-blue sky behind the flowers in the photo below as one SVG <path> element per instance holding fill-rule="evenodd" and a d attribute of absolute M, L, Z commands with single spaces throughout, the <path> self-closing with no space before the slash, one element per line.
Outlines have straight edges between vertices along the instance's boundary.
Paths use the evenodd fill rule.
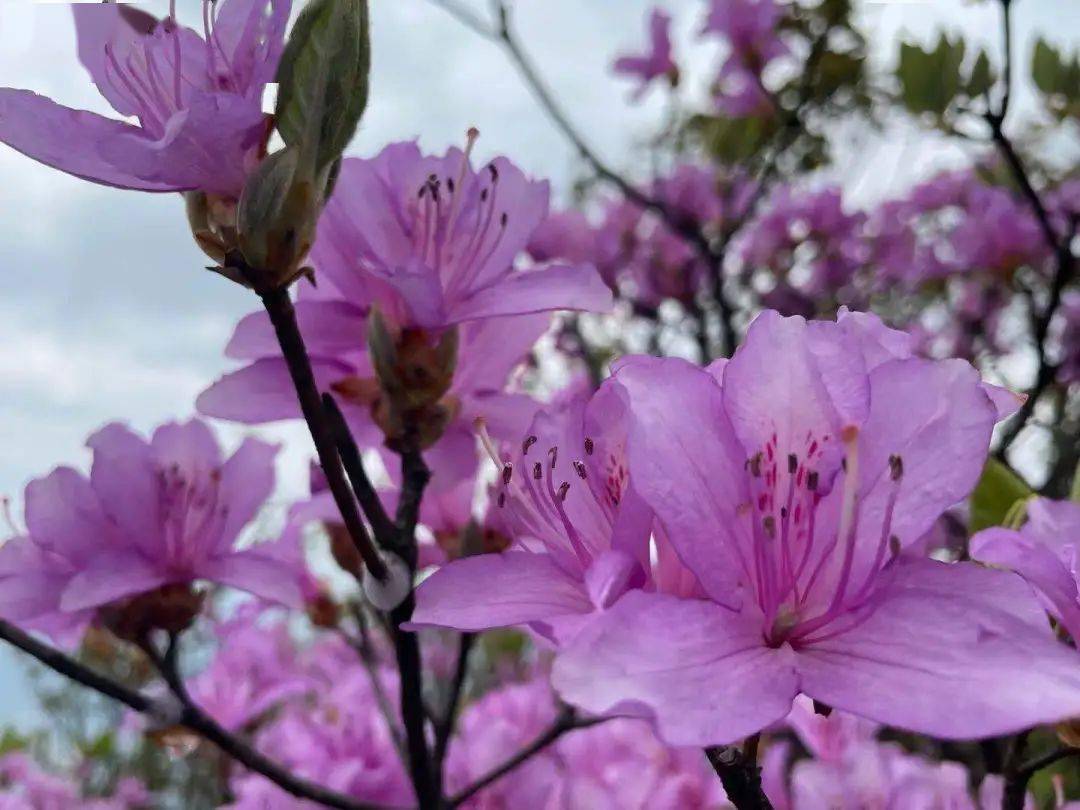
<path fill-rule="evenodd" d="M 478 14 L 488 8 L 484 0 L 463 4 Z M 651 93 L 631 104 L 630 86 L 609 64 L 644 41 L 645 16 L 657 4 L 675 15 L 690 71 L 707 72 L 718 53 L 692 41 L 703 0 L 516 2 L 521 37 L 562 105 L 595 149 L 631 175 L 663 98 Z M 507 154 L 566 198 L 580 161 L 495 44 L 429 0 L 372 6 L 372 97 L 351 153 L 372 156 L 411 138 L 442 151 L 476 126 L 481 160 Z M 198 9 L 179 0 L 181 21 L 199 19 Z M 926 40 L 943 25 L 997 42 L 995 2 L 893 0 L 862 3 L 860 13 L 879 64 L 888 64 L 899 37 Z M 1014 14 L 1022 66 L 1035 31 L 1080 43 L 1080 3 L 1016 0 Z M 0 0 L 0 86 L 110 112 L 76 58 L 64 3 Z M 1023 98 L 1018 109 L 1023 114 Z M 962 159 L 955 145 L 891 132 L 853 144 L 838 175 L 856 197 L 873 198 Z M 85 467 L 83 442 L 96 428 L 120 419 L 147 431 L 188 418 L 198 392 L 230 367 L 221 349 L 256 301 L 205 264 L 177 195 L 92 186 L 0 145 L 0 496 L 13 499 L 16 522 L 26 482 L 56 464 Z M 306 436 L 297 426 L 262 432 L 285 443 L 280 497 L 287 498 L 303 480 Z M 231 444 L 241 432 L 224 435 Z M 6 649 L 0 694 L 0 726 L 33 721 L 25 667 Z"/>

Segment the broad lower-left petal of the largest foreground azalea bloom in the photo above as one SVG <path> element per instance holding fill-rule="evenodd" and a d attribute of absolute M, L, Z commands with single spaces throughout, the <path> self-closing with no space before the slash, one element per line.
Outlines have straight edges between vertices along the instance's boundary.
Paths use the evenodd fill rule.
<path fill-rule="evenodd" d="M 651 717 L 671 745 L 730 743 L 782 719 L 798 691 L 791 650 L 712 602 L 631 591 L 555 660 L 552 685 L 594 714 Z"/>

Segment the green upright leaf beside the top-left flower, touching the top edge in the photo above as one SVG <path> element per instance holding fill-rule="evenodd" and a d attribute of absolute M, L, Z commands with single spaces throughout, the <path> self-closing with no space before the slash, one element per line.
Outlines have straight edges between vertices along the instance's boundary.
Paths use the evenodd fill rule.
<path fill-rule="evenodd" d="M 372 48 L 367 0 L 311 0 L 278 66 L 278 132 L 314 174 L 341 157 L 367 106 Z"/>

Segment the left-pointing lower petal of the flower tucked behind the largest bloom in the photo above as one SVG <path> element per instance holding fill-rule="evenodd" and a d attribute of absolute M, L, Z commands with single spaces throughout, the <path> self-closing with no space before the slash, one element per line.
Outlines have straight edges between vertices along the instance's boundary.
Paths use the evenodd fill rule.
<path fill-rule="evenodd" d="M 584 585 L 545 554 L 511 551 L 458 559 L 416 591 L 413 627 L 488 630 L 588 613 Z"/>

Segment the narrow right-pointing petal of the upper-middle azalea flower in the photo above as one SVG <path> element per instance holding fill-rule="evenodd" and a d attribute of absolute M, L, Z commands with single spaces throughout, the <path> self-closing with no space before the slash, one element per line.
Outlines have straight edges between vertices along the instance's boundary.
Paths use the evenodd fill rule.
<path fill-rule="evenodd" d="M 556 266 L 511 273 L 504 281 L 449 305 L 447 321 L 461 323 L 499 315 L 552 310 L 607 312 L 611 289 L 593 267 Z"/>

